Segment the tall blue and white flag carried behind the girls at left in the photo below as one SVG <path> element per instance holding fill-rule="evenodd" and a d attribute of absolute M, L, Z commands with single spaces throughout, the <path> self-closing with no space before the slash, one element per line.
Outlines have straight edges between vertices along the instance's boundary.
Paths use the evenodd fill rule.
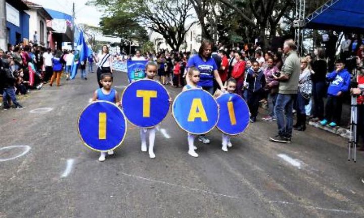
<path fill-rule="evenodd" d="M 77 74 L 77 68 L 81 61 L 84 61 L 88 56 L 88 46 L 83 38 L 83 32 L 80 31 L 77 45 L 75 47 L 73 63 L 71 66 L 71 79 L 74 79 Z"/>

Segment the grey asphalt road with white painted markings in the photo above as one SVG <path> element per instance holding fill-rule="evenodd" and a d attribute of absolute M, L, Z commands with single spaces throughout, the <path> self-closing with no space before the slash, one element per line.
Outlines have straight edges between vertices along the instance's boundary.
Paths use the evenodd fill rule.
<path fill-rule="evenodd" d="M 126 75 L 114 75 L 121 92 Z M 339 136 L 308 126 L 276 144 L 268 141 L 276 123 L 258 121 L 232 137 L 229 152 L 213 130 L 194 158 L 169 114 L 155 159 L 128 125 L 123 145 L 99 162 L 77 132 L 96 74 L 61 82 L 32 91 L 25 110 L 0 112 L 0 217 L 364 217 L 363 153 L 347 161 Z M 44 107 L 52 111 L 31 113 Z"/>

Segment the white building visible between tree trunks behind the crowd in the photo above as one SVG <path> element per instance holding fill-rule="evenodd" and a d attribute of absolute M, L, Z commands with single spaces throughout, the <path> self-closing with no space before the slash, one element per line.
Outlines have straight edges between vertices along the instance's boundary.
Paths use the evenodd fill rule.
<path fill-rule="evenodd" d="M 187 25 L 186 27 L 189 27 Z M 199 23 L 195 23 L 192 27 L 187 31 L 185 35 L 185 43 L 181 45 L 179 48 L 180 51 L 198 51 L 201 45 L 201 26 Z M 168 49 L 169 51 L 172 48 L 166 43 L 163 36 L 157 32 L 152 30 L 149 31 L 149 40 L 154 43 L 154 49 L 159 51 L 160 49 Z"/>

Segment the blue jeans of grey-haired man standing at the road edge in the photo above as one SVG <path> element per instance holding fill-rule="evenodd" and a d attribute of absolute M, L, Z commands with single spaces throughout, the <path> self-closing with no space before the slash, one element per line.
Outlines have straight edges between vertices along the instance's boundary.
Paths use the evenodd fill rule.
<path fill-rule="evenodd" d="M 293 103 L 297 94 L 278 94 L 275 106 L 277 116 L 278 134 L 291 138 L 293 127 Z"/>

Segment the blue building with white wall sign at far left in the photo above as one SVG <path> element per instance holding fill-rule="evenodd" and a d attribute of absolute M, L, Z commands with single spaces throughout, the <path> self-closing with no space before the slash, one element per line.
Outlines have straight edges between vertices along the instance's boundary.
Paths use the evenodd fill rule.
<path fill-rule="evenodd" d="M 21 0 L 6 0 L 8 46 L 29 40 L 29 10 Z"/>

